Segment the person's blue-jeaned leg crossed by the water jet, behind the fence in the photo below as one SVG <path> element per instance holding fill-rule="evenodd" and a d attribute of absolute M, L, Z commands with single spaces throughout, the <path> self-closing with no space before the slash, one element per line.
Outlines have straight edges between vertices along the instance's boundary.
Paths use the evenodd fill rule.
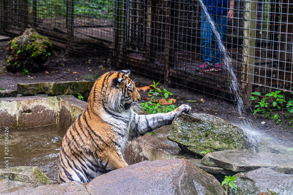
<path fill-rule="evenodd" d="M 222 43 L 226 41 L 226 33 L 227 33 L 227 25 L 228 25 L 228 18 L 227 15 L 218 15 L 217 18 L 217 31 L 219 32 Z M 217 43 L 215 44 L 215 55 L 214 55 L 214 61 L 215 65 L 219 64 L 223 58 L 223 53 L 219 47 L 219 40 L 217 39 Z"/>

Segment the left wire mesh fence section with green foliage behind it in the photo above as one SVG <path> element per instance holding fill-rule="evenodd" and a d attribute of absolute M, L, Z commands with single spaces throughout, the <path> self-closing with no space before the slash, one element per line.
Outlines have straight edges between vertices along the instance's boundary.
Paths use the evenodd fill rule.
<path fill-rule="evenodd" d="M 115 29 L 125 31 L 125 13 L 120 0 L 3 0 L 1 33 L 18 36 L 33 27 L 68 53 L 109 54 Z"/>

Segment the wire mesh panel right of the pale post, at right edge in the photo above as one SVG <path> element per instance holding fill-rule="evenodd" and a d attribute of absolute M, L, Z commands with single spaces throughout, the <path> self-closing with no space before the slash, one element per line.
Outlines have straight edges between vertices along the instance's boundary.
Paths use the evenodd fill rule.
<path fill-rule="evenodd" d="M 252 91 L 261 86 L 292 91 L 293 1 L 257 0 L 252 4 L 256 16 L 250 20 L 255 20 L 255 26 L 249 29 L 255 36 L 248 38 L 255 43 L 249 47 L 254 63 L 250 63 L 253 71 L 246 72 L 246 82 L 256 85 Z"/>

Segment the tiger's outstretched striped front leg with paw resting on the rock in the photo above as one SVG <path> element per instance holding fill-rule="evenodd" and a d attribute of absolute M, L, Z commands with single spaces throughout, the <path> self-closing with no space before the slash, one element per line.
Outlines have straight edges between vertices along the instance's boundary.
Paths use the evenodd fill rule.
<path fill-rule="evenodd" d="M 132 128 L 129 131 L 129 140 L 143 136 L 147 132 L 151 132 L 159 127 L 170 125 L 176 116 L 183 112 L 189 113 L 190 109 L 190 106 L 182 104 L 168 113 L 136 115 Z"/>

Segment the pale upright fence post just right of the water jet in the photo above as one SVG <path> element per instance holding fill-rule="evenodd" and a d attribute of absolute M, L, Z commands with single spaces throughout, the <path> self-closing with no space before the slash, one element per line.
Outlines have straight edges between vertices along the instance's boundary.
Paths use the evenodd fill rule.
<path fill-rule="evenodd" d="M 252 92 L 253 66 L 255 51 L 255 18 L 256 0 L 245 1 L 244 12 L 244 39 L 243 39 L 243 64 L 242 64 L 242 97 L 248 104 L 251 100 L 247 97 Z"/>

